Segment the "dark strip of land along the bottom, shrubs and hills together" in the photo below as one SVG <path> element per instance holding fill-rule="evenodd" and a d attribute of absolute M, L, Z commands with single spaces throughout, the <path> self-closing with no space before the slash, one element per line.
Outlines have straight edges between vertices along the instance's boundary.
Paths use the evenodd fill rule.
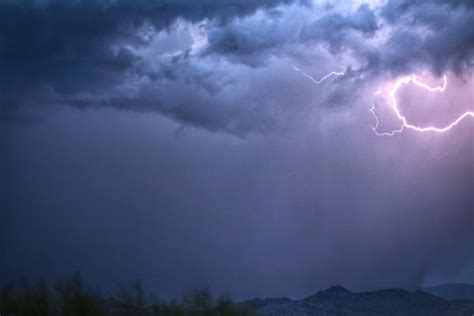
<path fill-rule="evenodd" d="M 449 294 L 469 294 L 471 287 L 435 287 Z M 466 290 L 467 289 L 467 290 Z M 453 294 L 453 295 L 454 295 Z M 48 286 L 39 280 L 0 288 L 0 314 L 5 316 L 441 316 L 474 315 L 474 300 L 449 300 L 423 291 L 386 289 L 352 292 L 341 286 L 319 291 L 301 300 L 252 299 L 234 303 L 197 289 L 171 302 L 151 299 L 139 282 L 103 296 L 80 274 Z"/>

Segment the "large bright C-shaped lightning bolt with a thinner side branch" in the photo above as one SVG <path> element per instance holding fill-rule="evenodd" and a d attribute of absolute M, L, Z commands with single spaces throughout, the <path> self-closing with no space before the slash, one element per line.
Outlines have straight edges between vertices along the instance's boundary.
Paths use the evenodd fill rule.
<path fill-rule="evenodd" d="M 397 133 L 401 133 L 404 129 L 411 129 L 417 132 L 435 132 L 435 133 L 444 133 L 449 131 L 451 128 L 455 127 L 458 125 L 462 120 L 464 120 L 467 117 L 474 117 L 474 112 L 472 110 L 466 111 L 463 114 L 461 114 L 457 119 L 449 123 L 448 125 L 444 127 L 436 127 L 436 126 L 426 126 L 426 127 L 421 127 L 421 126 L 416 126 L 408 122 L 408 119 L 401 114 L 401 111 L 398 107 L 398 100 L 397 100 L 397 92 L 398 90 L 409 83 L 412 83 L 420 88 L 423 88 L 429 92 L 444 92 L 446 90 L 446 87 L 448 85 L 448 78 L 443 76 L 443 85 L 442 86 L 437 86 L 437 87 L 430 87 L 426 83 L 423 83 L 417 79 L 415 75 L 410 75 L 406 76 L 403 78 L 398 79 L 393 87 L 390 89 L 388 99 L 390 100 L 390 108 L 391 110 L 395 113 L 397 118 L 402 122 L 402 125 L 400 126 L 399 129 L 394 129 L 391 132 L 379 132 L 378 127 L 380 125 L 379 118 L 377 116 L 377 113 L 375 111 L 375 104 L 372 103 L 372 107 L 370 108 L 370 112 L 372 113 L 374 119 L 375 119 L 375 125 L 372 126 L 372 130 L 375 132 L 377 136 L 393 136 Z M 380 91 L 376 92 L 376 95 L 381 95 L 382 93 Z"/>

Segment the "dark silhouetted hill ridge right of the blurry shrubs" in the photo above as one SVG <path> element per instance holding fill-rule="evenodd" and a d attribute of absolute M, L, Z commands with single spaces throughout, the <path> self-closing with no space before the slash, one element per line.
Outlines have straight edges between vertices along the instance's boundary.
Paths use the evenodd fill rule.
<path fill-rule="evenodd" d="M 402 289 L 351 292 L 341 286 L 319 291 L 302 300 L 254 299 L 261 315 L 473 315 L 474 301 L 446 300 L 432 294 Z"/>

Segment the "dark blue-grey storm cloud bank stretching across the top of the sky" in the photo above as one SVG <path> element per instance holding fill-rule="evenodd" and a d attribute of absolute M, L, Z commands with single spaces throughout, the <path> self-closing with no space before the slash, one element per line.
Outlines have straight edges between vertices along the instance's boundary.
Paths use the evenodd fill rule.
<path fill-rule="evenodd" d="M 180 31 L 186 34 L 177 34 L 180 21 L 198 22 L 194 27 L 206 41 L 201 50 L 193 51 L 197 39 L 190 25 Z M 322 98 L 344 103 L 346 91 L 382 74 L 417 68 L 463 73 L 473 63 L 473 23 L 469 1 L 389 1 L 355 10 L 290 0 L 4 1 L 1 116 L 8 120 L 24 106 L 44 104 L 115 106 L 246 134 L 274 117 L 265 111 L 261 118 L 245 115 L 252 93 L 236 95 L 231 86 L 253 75 L 252 69 L 232 64 L 312 63 L 319 58 L 311 50 L 327 51 L 335 64 L 351 56 L 343 85 Z M 160 36 L 165 39 L 157 42 Z M 343 80 L 349 80 L 349 89 Z M 189 97 L 179 92 L 177 98 L 172 91 L 178 90 Z M 239 127 L 233 127 L 235 116 Z"/>

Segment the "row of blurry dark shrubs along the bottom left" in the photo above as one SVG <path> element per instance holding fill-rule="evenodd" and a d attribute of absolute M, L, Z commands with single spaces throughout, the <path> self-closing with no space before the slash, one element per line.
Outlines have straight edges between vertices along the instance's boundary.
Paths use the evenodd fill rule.
<path fill-rule="evenodd" d="M 184 297 L 181 303 L 151 302 L 139 282 L 119 289 L 107 298 L 84 284 L 79 273 L 49 289 L 39 280 L 31 286 L 26 278 L 19 285 L 0 289 L 2 316 L 252 316 L 253 309 L 227 297 L 214 299 L 207 289 Z"/>

